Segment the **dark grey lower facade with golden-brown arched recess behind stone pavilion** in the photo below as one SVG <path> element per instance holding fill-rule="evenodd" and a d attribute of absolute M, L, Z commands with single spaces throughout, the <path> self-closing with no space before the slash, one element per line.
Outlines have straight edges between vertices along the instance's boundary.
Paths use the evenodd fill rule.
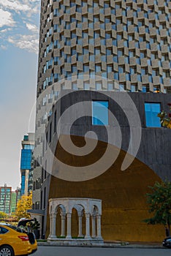
<path fill-rule="evenodd" d="M 44 161 L 47 162 L 47 171 L 53 176 L 47 174 L 47 180 L 42 184 L 42 191 L 46 187 L 47 198 L 56 197 L 96 197 L 102 200 L 102 236 L 104 240 L 127 240 L 127 241 L 160 241 L 164 236 L 164 228 L 151 227 L 142 222 L 142 219 L 148 217 L 148 206 L 145 202 L 145 193 L 149 192 L 148 186 L 152 186 L 155 181 L 161 181 L 164 178 L 171 178 L 170 176 L 170 129 L 164 128 L 148 128 L 145 125 L 145 102 L 160 102 L 161 108 L 167 109 L 167 102 L 170 102 L 170 94 L 137 94 L 129 93 L 133 99 L 134 104 L 140 113 L 140 121 L 142 124 L 142 138 L 137 156 L 125 171 L 121 170 L 121 164 L 125 157 L 129 145 L 130 127 L 123 110 L 119 108 L 116 102 L 113 101 L 112 94 L 121 97 L 123 92 L 108 92 L 106 95 L 97 91 L 68 91 L 68 94 L 62 97 L 61 101 L 53 107 L 53 115 L 49 119 L 47 125 L 47 143 L 50 150 L 53 152 L 61 162 L 69 166 L 80 167 L 91 165 L 98 161 L 104 154 L 107 148 L 107 132 L 106 127 L 92 125 L 91 116 L 85 116 L 78 119 L 74 124 L 69 124 L 69 119 L 64 119 L 60 123 L 61 137 L 64 141 L 69 141 L 67 132 L 70 128 L 72 141 L 77 147 L 82 147 L 85 144 L 84 136 L 88 131 L 96 132 L 98 137 L 98 144 L 91 154 L 88 156 L 79 157 L 69 154 L 58 142 L 56 132 L 51 133 L 50 129 L 58 124 L 58 118 L 62 116 L 64 111 L 70 105 L 77 102 L 108 100 L 109 110 L 115 113 L 118 123 L 121 127 L 123 135 L 121 152 L 113 162 L 113 165 L 108 168 L 106 172 L 96 178 L 75 182 L 65 181 L 58 178 L 59 166 L 55 162 L 53 166 L 50 165 L 50 158 L 47 151 L 45 151 Z M 58 110 L 58 118 L 54 123 L 54 113 Z M 132 108 L 129 106 L 129 111 L 132 113 Z M 74 116 L 75 113 L 70 113 Z M 113 120 L 109 119 L 110 131 L 115 137 L 115 124 Z M 135 124 L 136 126 L 136 124 Z M 67 128 L 69 127 L 69 129 Z M 50 133 L 52 140 L 50 141 Z M 90 138 L 91 140 L 91 138 Z M 166 147 L 166 141 L 168 146 Z M 113 146 L 111 157 L 115 152 Z M 72 175 L 72 173 L 71 173 Z M 44 200 L 44 197 L 42 198 Z M 48 236 L 49 217 L 47 211 L 47 203 L 45 206 L 45 230 Z M 46 221 L 47 215 L 47 221 Z M 75 223 L 75 224 L 74 224 Z M 59 222 L 57 225 L 61 225 Z M 75 219 L 73 219 L 74 227 L 77 229 Z M 73 231 L 74 232 L 74 231 Z M 75 230 L 75 233 L 76 230 Z M 157 235 L 156 235 L 157 234 Z M 60 236 L 60 234 L 58 234 Z"/>

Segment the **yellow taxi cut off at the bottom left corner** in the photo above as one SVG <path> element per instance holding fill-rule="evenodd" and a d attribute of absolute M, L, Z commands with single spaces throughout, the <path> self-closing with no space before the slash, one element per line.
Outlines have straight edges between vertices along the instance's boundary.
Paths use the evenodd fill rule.
<path fill-rule="evenodd" d="M 0 223 L 0 256 L 29 255 L 37 251 L 33 233 L 25 233 L 20 227 Z"/>

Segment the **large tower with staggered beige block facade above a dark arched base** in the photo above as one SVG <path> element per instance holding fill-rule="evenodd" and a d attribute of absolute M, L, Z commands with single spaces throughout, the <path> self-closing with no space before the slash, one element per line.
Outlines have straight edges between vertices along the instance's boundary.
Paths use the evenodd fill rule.
<path fill-rule="evenodd" d="M 167 103 L 171 101 L 170 13 L 171 3 L 167 0 L 41 1 L 31 211 L 39 214 L 42 235 L 50 233 L 50 198 L 92 197 L 102 199 L 104 239 L 150 241 L 158 231 L 156 239 L 161 238 L 161 230 L 153 233 L 142 219 L 147 212 L 148 185 L 166 176 L 171 178 L 171 162 L 164 147 L 170 130 L 161 128 L 156 117 L 161 109 L 168 110 Z M 83 101 L 91 102 L 84 110 L 85 116 L 92 118 L 79 116 L 73 122 L 72 116 L 81 109 L 77 107 L 67 118 L 60 119 L 67 108 Z M 116 115 L 118 123 L 108 112 Z M 136 113 L 140 119 L 130 122 L 130 116 Z M 121 133 L 117 133 L 118 124 Z M 114 145 L 113 152 L 119 147 L 119 140 L 107 139 L 105 126 L 110 127 L 112 138 L 122 134 L 118 162 L 87 181 L 76 182 L 72 173 L 68 180 L 60 176 L 66 169 L 56 165 L 47 154 L 48 148 L 72 167 L 91 165 L 110 143 Z M 69 157 L 61 141 L 67 143 L 72 135 L 75 145 L 83 147 L 89 130 L 98 137 L 95 153 L 86 159 Z M 137 144 L 132 139 L 135 135 L 142 135 L 137 137 L 136 154 Z M 88 136 L 92 143 L 94 137 Z M 136 158 L 123 173 L 121 163 L 126 151 Z"/>

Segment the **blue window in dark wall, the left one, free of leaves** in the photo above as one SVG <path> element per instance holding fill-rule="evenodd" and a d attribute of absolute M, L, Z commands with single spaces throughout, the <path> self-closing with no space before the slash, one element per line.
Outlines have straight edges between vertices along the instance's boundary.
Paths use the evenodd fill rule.
<path fill-rule="evenodd" d="M 108 102 L 94 101 L 92 102 L 92 124 L 108 125 Z"/>

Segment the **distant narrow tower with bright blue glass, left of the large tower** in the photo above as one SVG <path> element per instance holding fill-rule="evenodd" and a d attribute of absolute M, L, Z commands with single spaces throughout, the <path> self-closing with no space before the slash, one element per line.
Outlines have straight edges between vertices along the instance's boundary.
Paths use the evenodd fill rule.
<path fill-rule="evenodd" d="M 20 174 L 21 189 L 20 195 L 28 195 L 33 189 L 33 149 L 34 133 L 29 132 L 24 135 L 21 142 Z"/>

